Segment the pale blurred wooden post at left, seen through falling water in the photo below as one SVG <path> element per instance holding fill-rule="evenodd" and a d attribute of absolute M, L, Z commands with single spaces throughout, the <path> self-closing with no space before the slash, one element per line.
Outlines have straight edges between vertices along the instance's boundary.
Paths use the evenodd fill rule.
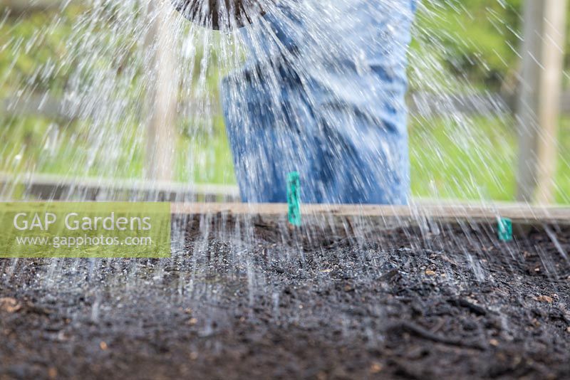
<path fill-rule="evenodd" d="M 145 177 L 151 181 L 172 181 L 176 147 L 177 78 L 173 9 L 170 1 L 150 0 L 150 29 L 147 48 L 152 49 L 149 70 L 152 79 L 147 93 L 147 154 Z"/>

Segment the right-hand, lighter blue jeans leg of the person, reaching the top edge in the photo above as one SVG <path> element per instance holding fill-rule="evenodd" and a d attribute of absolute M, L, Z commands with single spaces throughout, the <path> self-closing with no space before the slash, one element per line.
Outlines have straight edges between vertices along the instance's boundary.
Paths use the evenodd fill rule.
<path fill-rule="evenodd" d="M 303 67 L 326 146 L 323 179 L 332 184 L 326 202 L 406 204 L 406 68 L 415 1 L 354 0 L 344 11 L 346 22 L 330 31 L 342 46 L 331 53 L 305 46 L 301 54 L 320 57 Z"/>

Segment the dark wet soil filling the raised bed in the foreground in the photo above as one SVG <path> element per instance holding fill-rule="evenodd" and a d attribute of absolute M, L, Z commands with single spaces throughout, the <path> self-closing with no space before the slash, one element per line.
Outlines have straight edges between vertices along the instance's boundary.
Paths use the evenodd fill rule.
<path fill-rule="evenodd" d="M 168 260 L 0 260 L 0 379 L 568 378 L 570 229 L 424 224 L 211 216 Z"/>

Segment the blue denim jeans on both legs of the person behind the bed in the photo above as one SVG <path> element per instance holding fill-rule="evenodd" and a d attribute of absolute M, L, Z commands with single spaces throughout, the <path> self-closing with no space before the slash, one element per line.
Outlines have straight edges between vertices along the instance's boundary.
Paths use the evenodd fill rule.
<path fill-rule="evenodd" d="M 244 28 L 222 102 L 245 202 L 407 204 L 406 53 L 415 0 L 305 0 Z M 269 38 L 268 36 L 276 36 Z"/>

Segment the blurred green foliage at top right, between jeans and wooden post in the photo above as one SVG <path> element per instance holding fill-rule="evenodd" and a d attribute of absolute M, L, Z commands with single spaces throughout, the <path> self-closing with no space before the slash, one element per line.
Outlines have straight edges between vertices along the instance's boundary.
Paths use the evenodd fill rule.
<path fill-rule="evenodd" d="M 443 43 L 452 73 L 494 90 L 512 84 L 519 69 L 523 0 L 425 0 L 423 5 L 427 12 L 420 14 L 420 28 Z M 570 38 L 565 51 L 567 70 Z"/>

